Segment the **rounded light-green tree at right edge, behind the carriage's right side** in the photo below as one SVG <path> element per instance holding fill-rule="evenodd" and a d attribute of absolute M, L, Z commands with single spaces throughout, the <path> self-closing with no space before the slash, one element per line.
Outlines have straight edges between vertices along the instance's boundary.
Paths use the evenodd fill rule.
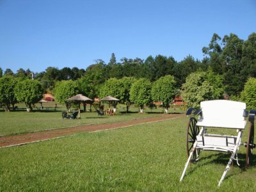
<path fill-rule="evenodd" d="M 241 99 L 246 102 L 246 108 L 256 109 L 256 78 L 250 77 L 245 83 Z"/>

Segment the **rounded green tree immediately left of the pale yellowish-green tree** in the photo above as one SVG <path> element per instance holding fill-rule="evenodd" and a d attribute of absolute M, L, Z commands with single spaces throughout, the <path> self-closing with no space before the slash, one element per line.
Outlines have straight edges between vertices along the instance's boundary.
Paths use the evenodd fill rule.
<path fill-rule="evenodd" d="M 170 102 L 175 96 L 175 83 L 174 77 L 168 75 L 157 79 L 152 85 L 152 100 L 163 102 L 165 113 L 168 113 Z"/>

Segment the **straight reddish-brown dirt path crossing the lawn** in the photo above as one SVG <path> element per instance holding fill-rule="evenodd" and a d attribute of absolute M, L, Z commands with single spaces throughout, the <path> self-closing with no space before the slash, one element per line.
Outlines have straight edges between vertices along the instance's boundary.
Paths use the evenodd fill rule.
<path fill-rule="evenodd" d="M 118 129 L 122 127 L 129 127 L 132 125 L 164 121 L 172 118 L 178 118 L 181 116 L 184 116 L 184 114 L 168 114 L 168 115 L 163 114 L 163 115 L 157 115 L 156 117 L 136 118 L 133 120 L 128 120 L 127 122 L 113 122 L 108 124 L 83 125 L 83 126 L 68 127 L 63 129 L 54 129 L 49 131 L 20 134 L 16 136 L 3 136 L 0 138 L 0 148 L 12 147 L 17 145 L 25 145 L 28 143 L 35 143 L 38 141 L 61 138 L 77 132 L 95 132 L 95 131 L 101 131 L 106 129 Z"/>

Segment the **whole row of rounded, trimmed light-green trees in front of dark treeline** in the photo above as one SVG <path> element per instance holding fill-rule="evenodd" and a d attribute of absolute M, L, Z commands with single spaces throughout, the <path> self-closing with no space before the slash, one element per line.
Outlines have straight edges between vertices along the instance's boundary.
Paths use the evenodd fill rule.
<path fill-rule="evenodd" d="M 186 104 L 190 107 L 199 108 L 200 102 L 204 100 L 220 99 L 223 97 L 223 77 L 214 72 L 193 72 L 182 84 L 181 90 L 173 76 L 160 77 L 153 83 L 148 79 L 134 77 L 123 77 L 122 79 L 110 78 L 99 89 L 99 97 L 111 95 L 120 99 L 122 104 L 127 106 L 127 112 L 132 103 L 140 106 L 143 112 L 145 105 L 152 102 L 162 102 L 165 112 L 168 113 L 170 102 L 175 95 L 182 95 Z M 67 99 L 83 93 L 88 95 L 86 86 L 83 86 L 83 78 L 58 81 L 54 88 L 55 99 L 61 104 L 70 108 L 70 101 Z M 27 110 L 31 111 L 32 106 L 42 99 L 44 90 L 42 84 L 35 79 L 20 79 L 12 76 L 0 78 L 0 103 L 6 105 L 8 111 L 14 109 L 17 102 L 24 102 Z M 87 94 L 86 94 L 87 93 Z M 241 100 L 246 102 L 248 108 L 255 108 L 256 105 L 256 78 L 250 77 L 241 93 Z"/>

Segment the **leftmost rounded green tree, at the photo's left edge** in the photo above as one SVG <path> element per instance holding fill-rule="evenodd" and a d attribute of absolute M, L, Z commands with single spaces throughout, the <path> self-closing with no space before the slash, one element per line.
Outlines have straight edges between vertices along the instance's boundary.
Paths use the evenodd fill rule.
<path fill-rule="evenodd" d="M 17 79 L 11 76 L 3 76 L 0 78 L 0 103 L 6 105 L 7 111 L 10 111 L 11 105 L 14 109 L 14 104 L 17 103 L 14 93 L 16 84 Z"/>

